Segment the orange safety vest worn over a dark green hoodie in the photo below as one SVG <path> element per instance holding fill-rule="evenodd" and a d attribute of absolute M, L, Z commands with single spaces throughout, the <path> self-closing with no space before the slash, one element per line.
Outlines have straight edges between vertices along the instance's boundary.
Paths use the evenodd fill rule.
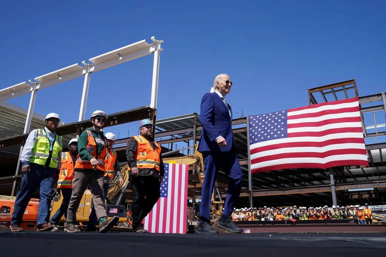
<path fill-rule="evenodd" d="M 106 168 L 105 168 L 105 157 L 107 155 L 107 140 L 106 138 L 104 139 L 105 141 L 105 147 L 103 148 L 102 152 L 97 156 L 97 148 L 95 147 L 97 145 L 97 143 L 95 143 L 95 139 L 94 139 L 94 136 L 92 134 L 92 132 L 90 130 L 85 130 L 86 133 L 87 133 L 87 145 L 86 145 L 86 148 L 88 150 L 88 152 L 95 158 L 98 160 L 98 165 L 96 167 L 97 170 L 100 170 L 100 171 L 103 171 L 106 172 Z M 92 151 L 90 152 L 90 150 L 92 149 Z M 87 161 L 87 160 L 82 160 L 80 158 L 80 155 L 78 154 L 78 160 L 76 160 L 76 163 L 75 163 L 75 167 L 74 169 L 91 169 L 93 170 L 94 169 L 94 166 L 91 165 L 90 161 Z"/>

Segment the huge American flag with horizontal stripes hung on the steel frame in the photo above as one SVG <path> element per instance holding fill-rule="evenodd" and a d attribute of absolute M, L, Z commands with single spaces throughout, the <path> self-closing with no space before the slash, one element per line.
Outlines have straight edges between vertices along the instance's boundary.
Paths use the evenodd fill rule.
<path fill-rule="evenodd" d="M 248 116 L 251 173 L 366 165 L 358 98 Z"/>

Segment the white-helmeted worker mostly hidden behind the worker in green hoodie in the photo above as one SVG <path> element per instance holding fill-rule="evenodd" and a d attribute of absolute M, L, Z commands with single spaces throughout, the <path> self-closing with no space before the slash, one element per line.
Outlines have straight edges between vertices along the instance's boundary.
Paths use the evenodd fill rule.
<path fill-rule="evenodd" d="M 105 158 L 105 177 L 103 182 L 103 202 L 107 199 L 108 187 L 110 185 L 110 180 L 114 176 L 114 172 L 117 173 L 118 183 L 120 186 L 123 185 L 123 177 L 120 171 L 119 162 L 117 158 L 117 153 L 113 150 L 113 145 L 115 142 L 115 134 L 108 132 L 105 134 L 107 139 L 107 155 Z M 117 203 L 119 204 L 119 203 Z M 97 213 L 95 212 L 94 202 L 91 200 L 91 212 L 88 217 L 88 223 L 86 231 L 96 231 L 97 228 Z"/>

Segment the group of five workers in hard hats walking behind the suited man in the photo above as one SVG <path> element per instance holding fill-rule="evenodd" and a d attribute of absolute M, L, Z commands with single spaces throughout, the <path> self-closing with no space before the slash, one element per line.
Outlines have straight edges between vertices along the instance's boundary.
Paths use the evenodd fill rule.
<path fill-rule="evenodd" d="M 38 231 L 58 230 L 57 224 L 64 215 L 64 231 L 80 232 L 76 226 L 76 213 L 87 186 L 91 187 L 92 194 L 87 230 L 96 231 L 96 225 L 99 225 L 99 232 L 105 233 L 117 225 L 119 217 L 107 218 L 105 199 L 114 172 L 121 186 L 124 180 L 117 153 L 112 149 L 115 135 L 103 133 L 107 119 L 105 112 L 93 112 L 90 117 L 92 126 L 86 128 L 78 139 L 71 139 L 67 152 L 62 152 L 62 138 L 55 132 L 60 121 L 58 114 L 49 113 L 45 119 L 46 126 L 30 132 L 20 156 L 23 178 L 15 199 L 11 231 L 23 231 L 20 227 L 22 218 L 37 188 L 40 193 Z M 133 136 L 127 143 L 134 232 L 147 232 L 141 222 L 157 202 L 164 176 L 161 146 L 152 138 L 153 126 L 149 119 L 141 121 L 141 134 Z M 55 183 L 57 187 L 54 189 Z M 54 202 L 61 197 L 63 200 L 50 218 L 51 196 Z"/>

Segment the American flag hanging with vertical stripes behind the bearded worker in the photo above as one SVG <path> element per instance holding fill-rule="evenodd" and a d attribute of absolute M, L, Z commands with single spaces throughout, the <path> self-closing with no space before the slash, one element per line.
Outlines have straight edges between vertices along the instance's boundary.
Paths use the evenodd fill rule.
<path fill-rule="evenodd" d="M 165 163 L 161 197 L 144 218 L 144 227 L 151 233 L 186 233 L 188 204 L 188 165 Z"/>

